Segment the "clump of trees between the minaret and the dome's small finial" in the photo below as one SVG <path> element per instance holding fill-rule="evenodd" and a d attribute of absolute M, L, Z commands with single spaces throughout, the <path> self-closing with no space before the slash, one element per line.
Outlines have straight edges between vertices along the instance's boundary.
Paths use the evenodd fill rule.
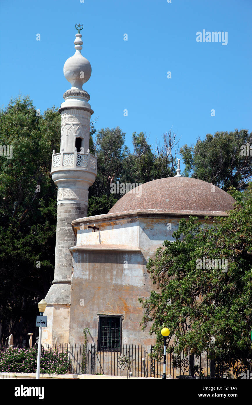
<path fill-rule="evenodd" d="M 163 145 L 156 145 L 155 153 L 143 132 L 132 135 L 133 153 L 125 146 L 125 133 L 119 127 L 100 130 L 95 139 L 97 178 L 89 189 L 92 196 L 110 196 L 111 183 L 146 183 L 176 174 L 176 135 L 163 134 Z M 169 151 L 171 149 L 172 152 Z M 172 155 L 173 153 L 173 155 Z M 175 153 L 175 154 L 174 154 Z M 116 198 L 121 198 L 121 194 Z M 114 196 L 115 197 L 115 196 Z M 95 200 L 94 200 L 95 201 Z M 99 203 L 100 200 L 97 200 Z M 98 210 L 92 207 L 92 212 Z M 106 212 L 105 212 L 106 211 Z M 103 213 L 107 213 L 109 209 Z"/>

